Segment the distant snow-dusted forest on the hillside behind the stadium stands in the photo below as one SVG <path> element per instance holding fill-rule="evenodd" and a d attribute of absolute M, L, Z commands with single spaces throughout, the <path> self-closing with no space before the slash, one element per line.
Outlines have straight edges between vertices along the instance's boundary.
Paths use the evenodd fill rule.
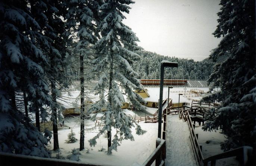
<path fill-rule="evenodd" d="M 131 66 L 139 74 L 139 79 L 160 79 L 160 62 L 163 60 L 178 62 L 178 68 L 165 68 L 165 79 L 206 80 L 215 64 L 208 58 L 196 62 L 193 59 L 162 56 L 149 51 L 137 51 L 137 53 L 141 58 Z"/>

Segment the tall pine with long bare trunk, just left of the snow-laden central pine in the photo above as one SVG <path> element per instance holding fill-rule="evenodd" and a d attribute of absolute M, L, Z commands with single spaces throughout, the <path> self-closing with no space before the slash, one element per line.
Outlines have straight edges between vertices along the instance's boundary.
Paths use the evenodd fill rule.
<path fill-rule="evenodd" d="M 67 1 L 68 14 L 66 15 L 67 26 L 72 27 L 73 33 L 77 34 L 75 40 L 75 55 L 79 55 L 80 59 L 80 98 L 81 98 L 81 126 L 80 126 L 80 150 L 84 149 L 84 116 L 85 116 L 85 79 L 84 79 L 84 63 L 88 64 L 92 53 L 92 45 L 96 42 L 96 26 L 97 20 L 93 18 L 94 13 L 97 14 L 99 6 L 97 1 L 77 0 Z M 93 23 L 94 22 L 94 23 Z M 72 32 L 71 32 L 72 33 Z"/>

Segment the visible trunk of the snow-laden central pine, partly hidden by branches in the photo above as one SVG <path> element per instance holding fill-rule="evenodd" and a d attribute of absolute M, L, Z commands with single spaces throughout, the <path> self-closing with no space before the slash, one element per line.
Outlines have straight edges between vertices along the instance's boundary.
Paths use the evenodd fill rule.
<path fill-rule="evenodd" d="M 111 54 L 110 58 L 110 72 L 109 72 L 109 92 L 112 89 L 112 80 L 113 80 L 113 56 Z M 112 107 L 112 98 L 109 97 L 109 104 Z M 110 146 L 111 146 L 111 126 L 109 131 L 107 131 L 107 153 L 110 154 Z"/>

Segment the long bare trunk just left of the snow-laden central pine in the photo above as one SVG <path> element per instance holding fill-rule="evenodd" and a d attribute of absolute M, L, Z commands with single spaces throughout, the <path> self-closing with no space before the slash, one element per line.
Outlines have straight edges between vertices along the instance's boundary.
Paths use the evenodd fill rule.
<path fill-rule="evenodd" d="M 81 125 L 80 125 L 80 149 L 84 149 L 84 57 L 80 53 L 80 86 L 81 86 Z"/>

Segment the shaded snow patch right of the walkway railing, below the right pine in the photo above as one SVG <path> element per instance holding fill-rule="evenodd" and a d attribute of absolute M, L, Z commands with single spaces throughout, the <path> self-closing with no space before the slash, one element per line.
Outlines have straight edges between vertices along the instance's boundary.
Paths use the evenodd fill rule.
<path fill-rule="evenodd" d="M 225 135 L 219 133 L 220 131 L 203 131 L 202 126 L 196 123 L 196 133 L 198 133 L 199 144 L 202 145 L 203 157 L 207 158 L 219 153 L 223 153 L 220 144 L 224 142 Z M 229 157 L 226 159 L 216 160 L 216 166 L 237 166 L 239 165 L 235 157 Z"/>

